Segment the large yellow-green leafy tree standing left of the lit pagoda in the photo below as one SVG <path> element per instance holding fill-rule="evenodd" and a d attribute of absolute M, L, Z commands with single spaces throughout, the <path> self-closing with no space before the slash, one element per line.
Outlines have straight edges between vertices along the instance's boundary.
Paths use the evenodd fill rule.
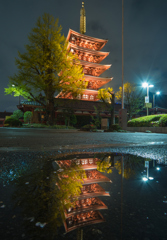
<path fill-rule="evenodd" d="M 40 103 L 46 109 L 46 120 L 54 123 L 54 98 L 71 93 L 75 98 L 86 87 L 78 57 L 68 49 L 66 38 L 61 35 L 58 20 L 49 14 L 39 17 L 36 27 L 29 34 L 26 52 L 18 52 L 18 72 L 10 77 L 6 94 L 23 96 Z"/>

